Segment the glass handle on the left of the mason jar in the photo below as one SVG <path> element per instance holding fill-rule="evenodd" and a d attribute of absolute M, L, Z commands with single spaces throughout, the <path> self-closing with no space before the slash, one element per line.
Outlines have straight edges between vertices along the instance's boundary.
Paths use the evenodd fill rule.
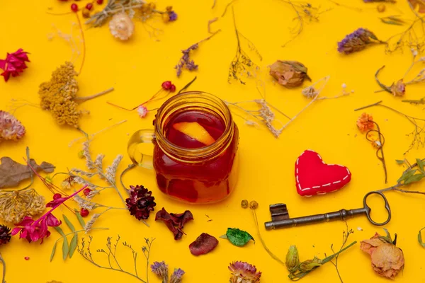
<path fill-rule="evenodd" d="M 155 134 L 153 129 L 140 129 L 132 134 L 128 141 L 127 151 L 133 163 L 147 169 L 154 168 L 152 155 L 142 154 L 139 151 L 139 144 L 151 143 L 154 139 Z"/>

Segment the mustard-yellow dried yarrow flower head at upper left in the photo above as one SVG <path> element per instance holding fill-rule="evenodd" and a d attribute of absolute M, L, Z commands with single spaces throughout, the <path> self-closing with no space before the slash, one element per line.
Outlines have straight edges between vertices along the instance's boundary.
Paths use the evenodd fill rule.
<path fill-rule="evenodd" d="M 52 112 L 59 125 L 78 127 L 81 111 L 77 110 L 78 104 L 73 100 L 77 96 L 78 84 L 75 79 L 77 71 L 71 62 L 52 72 L 50 81 L 40 84 L 40 106 L 43 110 Z"/>

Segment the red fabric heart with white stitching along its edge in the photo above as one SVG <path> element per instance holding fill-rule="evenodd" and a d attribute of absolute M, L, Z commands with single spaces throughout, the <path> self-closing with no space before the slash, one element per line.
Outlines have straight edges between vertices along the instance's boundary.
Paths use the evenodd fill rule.
<path fill-rule="evenodd" d="M 326 164 L 316 151 L 304 151 L 295 162 L 295 181 L 301 196 L 324 195 L 344 187 L 351 180 L 345 166 Z"/>

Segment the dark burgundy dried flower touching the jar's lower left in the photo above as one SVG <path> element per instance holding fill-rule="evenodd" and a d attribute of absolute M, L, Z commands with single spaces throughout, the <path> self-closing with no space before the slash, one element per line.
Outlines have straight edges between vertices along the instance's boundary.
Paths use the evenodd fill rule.
<path fill-rule="evenodd" d="M 157 205 L 152 197 L 152 192 L 142 185 L 130 186 L 130 197 L 125 200 L 131 215 L 138 220 L 148 219 L 150 212 L 154 211 Z"/>

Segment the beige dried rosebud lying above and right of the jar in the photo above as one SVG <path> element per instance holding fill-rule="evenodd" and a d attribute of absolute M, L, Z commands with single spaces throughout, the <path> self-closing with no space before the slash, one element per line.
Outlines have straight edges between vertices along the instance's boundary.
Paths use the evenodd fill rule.
<path fill-rule="evenodd" d="M 270 75 L 278 83 L 287 88 L 301 86 L 305 79 L 311 81 L 307 75 L 307 67 L 296 61 L 276 61 L 270 66 Z"/>

